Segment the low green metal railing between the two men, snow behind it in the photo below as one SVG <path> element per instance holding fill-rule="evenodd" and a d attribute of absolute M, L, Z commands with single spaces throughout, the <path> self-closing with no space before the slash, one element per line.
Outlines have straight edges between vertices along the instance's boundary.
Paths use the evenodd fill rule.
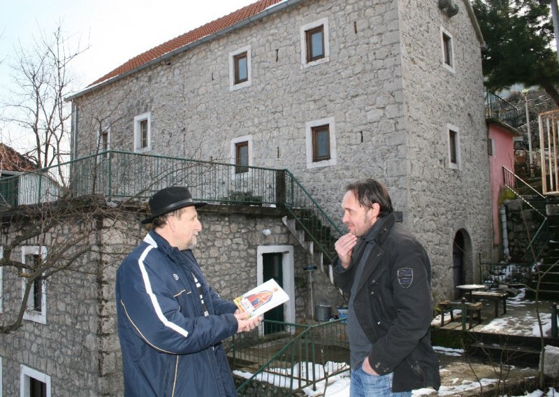
<path fill-rule="evenodd" d="M 260 330 L 225 342 L 239 396 L 292 396 L 349 370 L 342 319 L 314 325 L 263 323 Z"/>

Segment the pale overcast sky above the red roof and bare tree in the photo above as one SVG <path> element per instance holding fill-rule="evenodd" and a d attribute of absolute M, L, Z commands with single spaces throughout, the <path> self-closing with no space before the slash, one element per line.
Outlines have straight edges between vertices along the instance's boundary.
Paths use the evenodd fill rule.
<path fill-rule="evenodd" d="M 87 49 L 72 66 L 83 88 L 128 59 L 256 0 L 4 0 L 0 12 L 0 102 L 14 47 L 29 47 L 61 23 Z M 1 137 L 0 137 L 1 138 Z M 13 141 L 13 136 L 12 136 Z M 8 143 L 8 142 L 6 142 Z M 10 144 L 10 143 L 8 143 Z M 16 150 L 17 143 L 12 142 Z"/>

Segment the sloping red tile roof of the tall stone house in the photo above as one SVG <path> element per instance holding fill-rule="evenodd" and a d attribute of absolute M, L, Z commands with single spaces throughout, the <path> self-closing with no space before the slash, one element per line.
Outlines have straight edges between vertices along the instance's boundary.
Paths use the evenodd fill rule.
<path fill-rule="evenodd" d="M 184 47 L 184 45 L 194 43 L 195 41 L 205 36 L 209 36 L 210 34 L 215 34 L 218 31 L 221 31 L 223 29 L 226 29 L 227 27 L 232 26 L 233 24 L 236 24 L 237 22 L 240 22 L 242 20 L 247 20 L 249 17 L 261 13 L 266 8 L 273 6 L 274 4 L 279 3 L 281 1 L 283 0 L 256 1 L 256 3 L 249 4 L 248 6 L 245 6 L 240 10 L 236 10 L 235 12 L 229 15 L 225 15 L 224 17 L 221 17 L 215 21 L 209 22 L 201 27 L 191 30 L 185 34 L 182 34 L 181 36 L 175 37 L 167 41 L 166 43 L 158 45 L 157 47 L 152 48 L 151 50 L 147 50 L 143 54 L 133 57 L 132 59 L 129 59 L 129 61 L 117 67 L 114 71 L 111 71 L 106 75 L 103 75 L 103 77 L 99 78 L 98 80 L 92 82 L 92 84 L 89 85 L 89 87 L 91 87 L 92 85 L 96 85 L 99 82 L 106 81 L 110 78 L 114 78 L 117 75 L 121 75 L 122 73 L 129 72 L 135 68 L 138 68 L 139 66 L 142 66 L 143 64 L 147 64 L 147 62 L 150 62 L 165 54 L 168 54 L 168 52 L 172 52 L 174 50 L 177 50 L 178 48 Z"/>

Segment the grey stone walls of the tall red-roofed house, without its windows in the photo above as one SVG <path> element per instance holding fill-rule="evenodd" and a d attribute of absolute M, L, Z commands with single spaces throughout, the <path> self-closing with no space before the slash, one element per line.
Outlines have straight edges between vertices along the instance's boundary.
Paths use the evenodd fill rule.
<path fill-rule="evenodd" d="M 468 282 L 477 252 L 493 256 L 481 43 L 466 3 L 448 17 L 435 0 L 298 1 L 75 96 L 76 157 L 96 150 L 92 117 L 110 127 L 112 149 L 133 151 L 134 117 L 149 114 L 147 153 L 231 162 L 231 143 L 248 137 L 252 165 L 288 168 L 336 222 L 344 185 L 377 178 L 426 245 L 440 301 L 453 294 L 456 233 Z M 328 24 L 329 52 L 309 66 L 300 36 L 316 21 Z M 231 89 L 228 59 L 247 48 L 250 84 Z M 307 164 L 305 129 L 316 120 L 331 125 L 335 164 Z M 458 131 L 455 167 L 449 128 Z"/>

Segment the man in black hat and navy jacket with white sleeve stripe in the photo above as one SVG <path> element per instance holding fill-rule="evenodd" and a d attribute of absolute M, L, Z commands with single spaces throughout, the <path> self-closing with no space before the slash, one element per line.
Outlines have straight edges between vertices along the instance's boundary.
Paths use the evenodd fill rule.
<path fill-rule="evenodd" d="M 258 326 L 205 282 L 192 254 L 202 230 L 186 187 L 150 198 L 153 227 L 117 270 L 125 396 L 236 396 L 221 341 Z"/>

